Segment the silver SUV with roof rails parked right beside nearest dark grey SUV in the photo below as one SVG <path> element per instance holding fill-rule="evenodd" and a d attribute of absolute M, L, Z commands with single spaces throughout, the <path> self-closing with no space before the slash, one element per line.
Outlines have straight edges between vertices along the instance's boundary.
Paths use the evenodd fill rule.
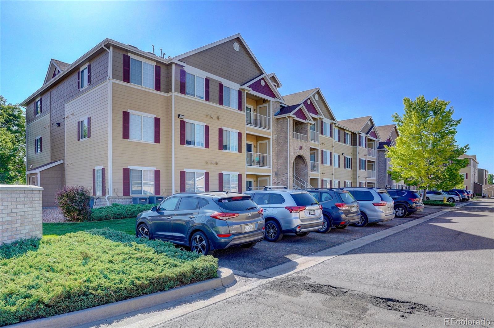
<path fill-rule="evenodd" d="M 263 209 L 264 238 L 278 242 L 283 234 L 307 236 L 323 226 L 323 208 L 307 191 L 274 189 L 248 191 L 252 201 Z"/>

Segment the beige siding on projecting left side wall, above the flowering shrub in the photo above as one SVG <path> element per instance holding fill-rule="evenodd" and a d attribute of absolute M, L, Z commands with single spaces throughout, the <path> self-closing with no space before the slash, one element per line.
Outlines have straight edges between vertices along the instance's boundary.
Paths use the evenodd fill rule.
<path fill-rule="evenodd" d="M 83 185 L 92 191 L 92 170 L 106 168 L 108 180 L 108 87 L 109 83 L 82 94 L 65 105 L 66 184 Z M 91 118 L 91 137 L 77 140 L 78 121 Z M 108 187 L 108 182 L 106 183 Z M 107 191 L 108 192 L 108 191 Z"/>

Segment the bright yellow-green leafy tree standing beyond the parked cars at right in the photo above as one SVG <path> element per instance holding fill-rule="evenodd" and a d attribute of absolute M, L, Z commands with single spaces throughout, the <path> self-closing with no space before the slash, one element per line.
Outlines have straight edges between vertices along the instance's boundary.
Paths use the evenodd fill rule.
<path fill-rule="evenodd" d="M 424 199 L 426 189 L 451 189 L 462 183 L 459 171 L 468 160 L 458 157 L 469 147 L 459 147 L 455 140 L 461 119 L 453 119 L 450 102 L 419 96 L 415 100 L 404 98 L 403 104 L 403 116 L 392 115 L 400 132 L 396 146 L 386 146 L 393 180 L 419 186 L 424 190 Z"/>

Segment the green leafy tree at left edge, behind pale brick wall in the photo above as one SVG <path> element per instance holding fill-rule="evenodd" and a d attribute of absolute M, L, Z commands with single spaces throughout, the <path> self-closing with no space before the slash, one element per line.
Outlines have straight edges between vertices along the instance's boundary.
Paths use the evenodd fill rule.
<path fill-rule="evenodd" d="M 0 183 L 26 183 L 26 118 L 0 96 Z"/>

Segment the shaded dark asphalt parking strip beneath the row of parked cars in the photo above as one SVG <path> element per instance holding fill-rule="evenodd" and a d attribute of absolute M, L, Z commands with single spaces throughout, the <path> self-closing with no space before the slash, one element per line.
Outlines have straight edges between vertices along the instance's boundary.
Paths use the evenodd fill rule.
<path fill-rule="evenodd" d="M 447 207 L 446 207 L 447 208 Z M 387 222 L 368 225 L 365 228 L 348 226 L 346 229 L 331 229 L 327 234 L 311 232 L 305 237 L 285 235 L 278 243 L 262 241 L 256 246 L 244 249 L 232 247 L 214 252 L 219 266 L 232 269 L 238 276 L 249 276 L 276 265 L 336 246 L 354 239 L 385 230 L 408 221 L 445 209 L 439 206 L 425 206 L 424 210 L 405 218 L 394 218 Z"/>

